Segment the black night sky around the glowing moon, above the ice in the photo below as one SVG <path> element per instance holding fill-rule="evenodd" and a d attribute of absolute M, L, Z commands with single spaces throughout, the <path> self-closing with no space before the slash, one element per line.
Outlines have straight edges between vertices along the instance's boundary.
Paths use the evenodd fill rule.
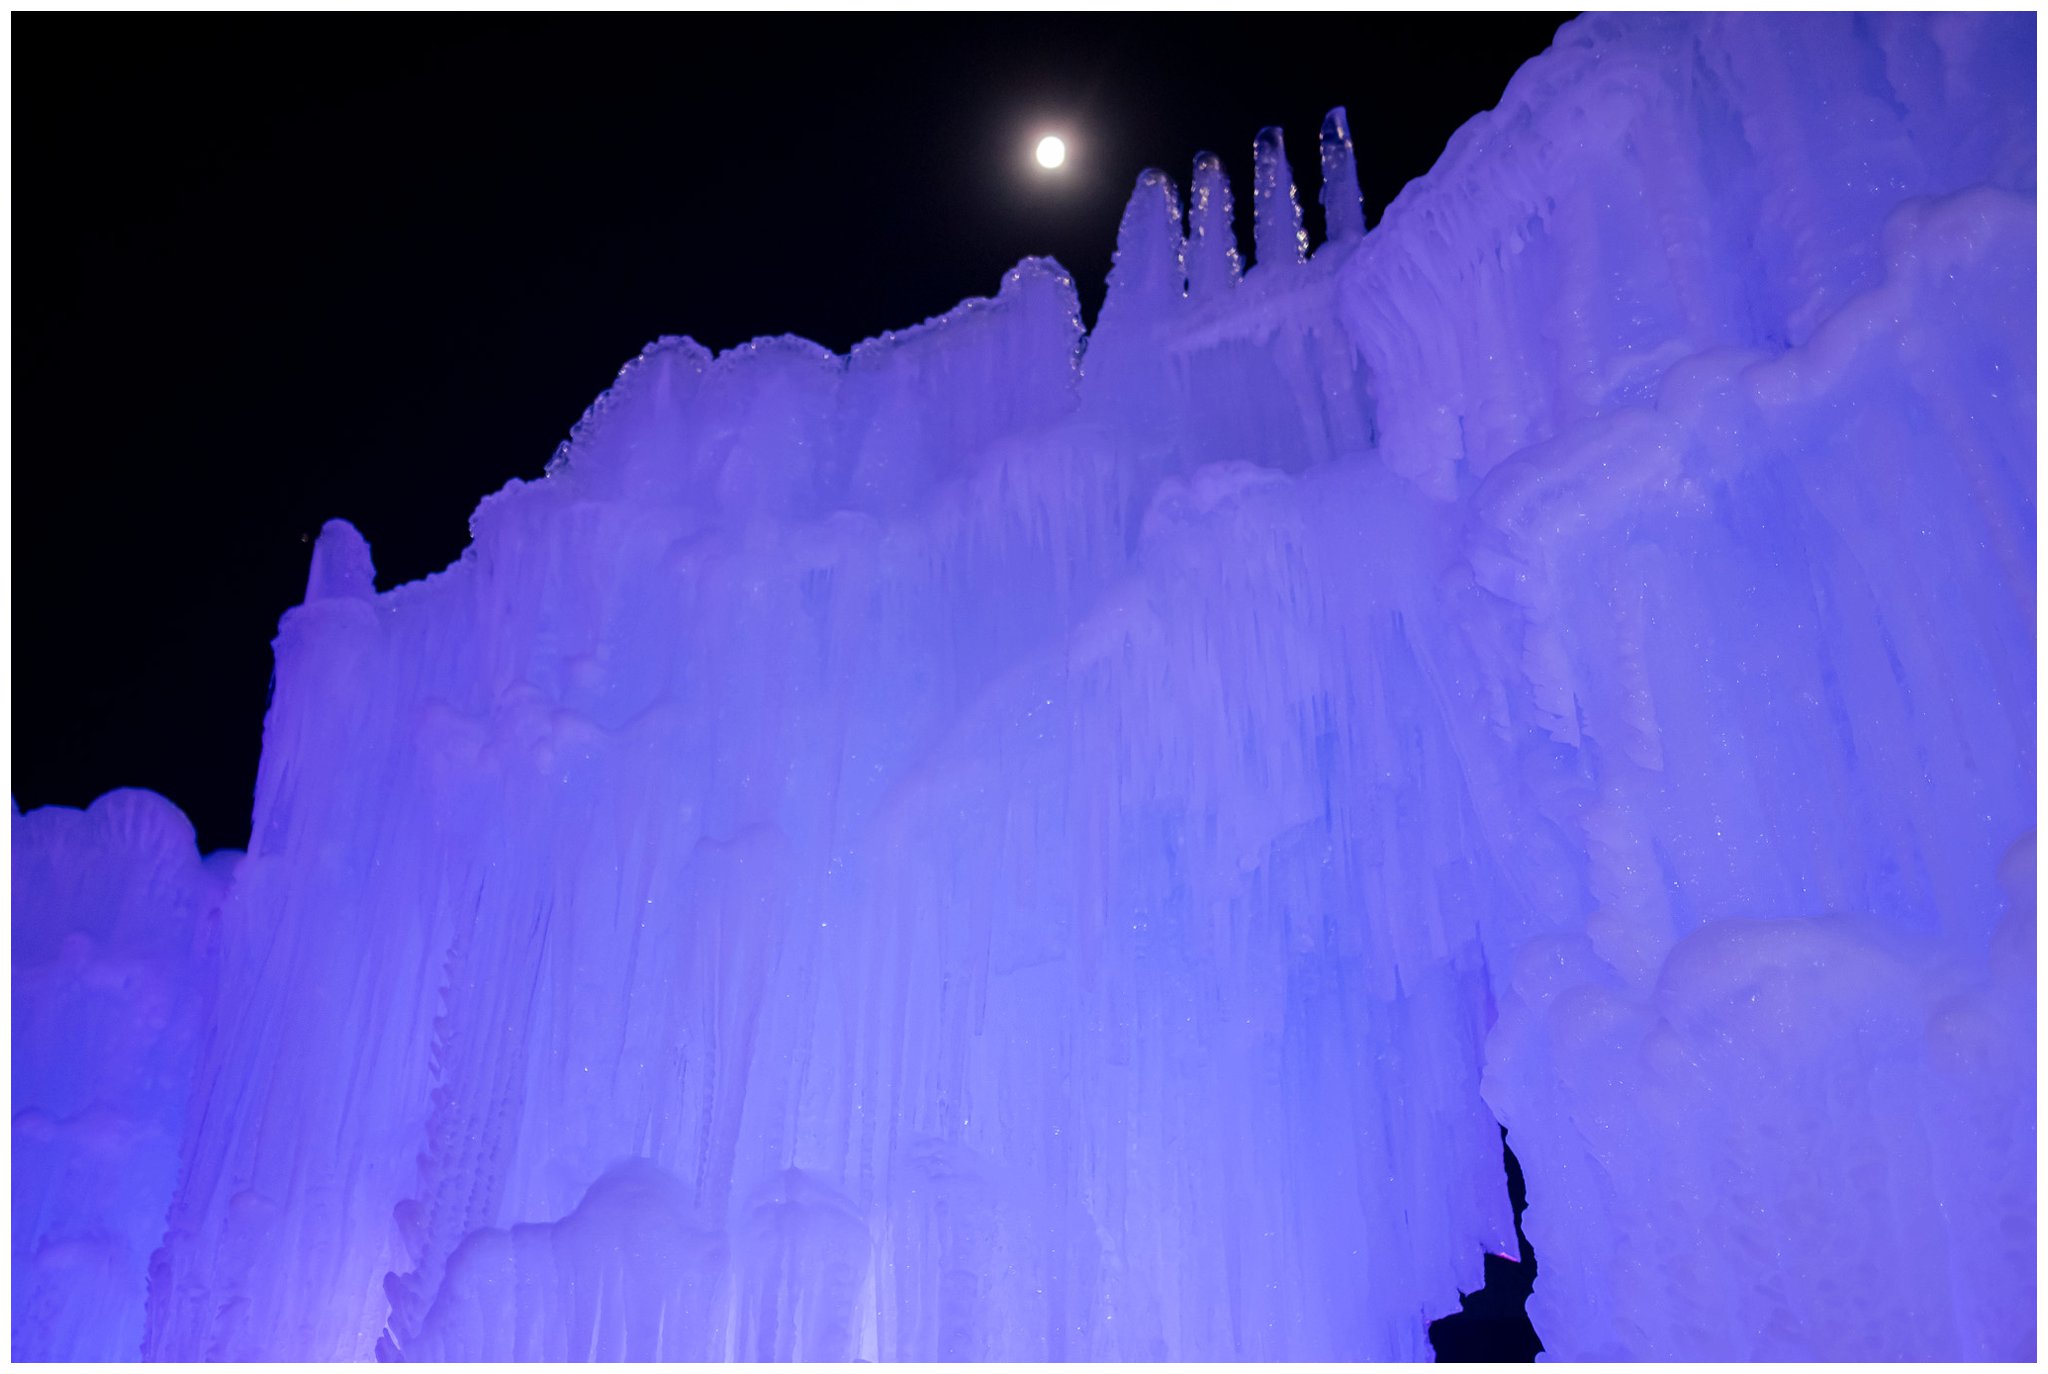
<path fill-rule="evenodd" d="M 844 350 L 1030 254 L 1092 324 L 1137 172 L 1247 205 L 1262 125 L 1348 106 L 1376 221 L 1565 18 L 20 16 L 16 803 L 242 846 L 324 520 L 449 565 L 659 334 Z"/>

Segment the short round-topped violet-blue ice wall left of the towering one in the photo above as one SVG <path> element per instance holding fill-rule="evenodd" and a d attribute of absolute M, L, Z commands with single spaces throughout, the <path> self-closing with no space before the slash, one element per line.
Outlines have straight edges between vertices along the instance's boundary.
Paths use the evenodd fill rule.
<path fill-rule="evenodd" d="M 14 1360 L 133 1360 L 236 854 L 154 792 L 12 817 Z"/>

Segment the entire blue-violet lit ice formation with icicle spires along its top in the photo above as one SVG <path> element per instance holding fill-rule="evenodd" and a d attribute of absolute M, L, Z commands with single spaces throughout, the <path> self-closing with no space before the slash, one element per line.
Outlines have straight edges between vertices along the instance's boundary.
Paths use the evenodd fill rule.
<path fill-rule="evenodd" d="M 246 856 L 14 817 L 14 1354 L 1427 1358 L 1501 1122 L 1554 1356 L 2032 1358 L 2034 18 L 1321 168 L 330 524 Z"/>

